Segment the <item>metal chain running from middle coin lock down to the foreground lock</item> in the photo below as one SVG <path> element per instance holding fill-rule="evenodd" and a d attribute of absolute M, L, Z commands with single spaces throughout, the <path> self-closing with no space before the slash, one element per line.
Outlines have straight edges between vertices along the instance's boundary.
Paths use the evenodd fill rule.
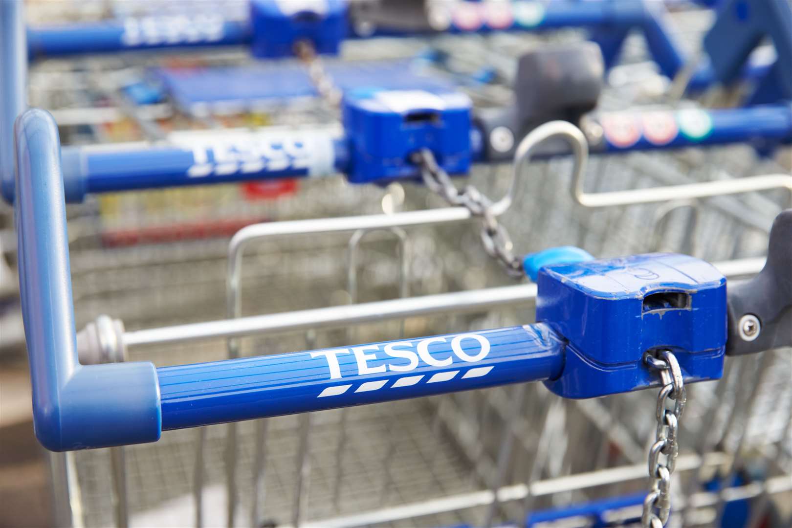
<path fill-rule="evenodd" d="M 448 203 L 467 207 L 471 215 L 482 220 L 482 242 L 484 250 L 506 268 L 508 275 L 519 279 L 524 276 L 523 261 L 512 253 L 512 238 L 508 231 L 497 221 L 490 211 L 492 201 L 472 185 L 460 192 L 440 165 L 437 165 L 431 150 L 421 149 L 413 153 L 412 161 L 421 167 L 424 183 L 433 192 L 442 196 Z"/>

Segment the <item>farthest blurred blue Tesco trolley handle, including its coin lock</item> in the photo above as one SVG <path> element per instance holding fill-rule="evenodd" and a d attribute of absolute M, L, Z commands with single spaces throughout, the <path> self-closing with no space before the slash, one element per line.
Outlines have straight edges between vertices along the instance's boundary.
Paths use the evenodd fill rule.
<path fill-rule="evenodd" d="M 27 50 L 29 57 L 36 59 L 169 47 L 249 45 L 253 55 L 272 58 L 293 55 L 297 40 L 310 41 L 319 52 L 337 53 L 345 39 L 585 27 L 593 29 L 592 40 L 600 45 L 608 67 L 618 60 L 626 36 L 635 29 L 645 36 L 649 52 L 664 75 L 674 78 L 686 62 L 679 45 L 664 27 L 661 2 L 553 0 L 496 2 L 495 6 L 485 2 L 456 2 L 451 9 L 441 3 L 436 13 L 422 9 L 425 21 L 408 24 L 409 27 L 379 27 L 377 22 L 366 21 L 365 17 L 358 19 L 360 12 L 348 9 L 348 3 L 354 5 L 343 0 L 326 0 L 315 2 L 317 7 L 303 6 L 292 13 L 284 9 L 288 2 L 251 0 L 248 21 L 226 21 L 221 16 L 199 14 L 29 28 Z M 398 10 L 394 13 L 402 17 L 403 7 L 397 5 L 395 9 Z M 490 13 L 493 9 L 497 12 Z M 393 17 L 391 14 L 390 18 Z M 377 18 L 381 23 L 389 17 L 384 14 Z M 366 29 L 361 31 L 361 28 Z M 770 65 L 750 63 L 742 75 L 749 79 L 763 78 L 768 70 Z M 703 67 L 695 72 L 688 88 L 700 91 L 713 82 L 713 71 Z"/>

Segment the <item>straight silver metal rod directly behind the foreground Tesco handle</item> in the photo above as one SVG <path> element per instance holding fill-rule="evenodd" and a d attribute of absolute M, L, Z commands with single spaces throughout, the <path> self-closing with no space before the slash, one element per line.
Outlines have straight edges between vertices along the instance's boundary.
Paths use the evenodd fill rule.
<path fill-rule="evenodd" d="M 756 275 L 764 266 L 764 257 L 715 262 L 727 278 Z M 332 328 L 402 317 L 417 317 L 434 313 L 463 313 L 531 304 L 536 298 L 536 284 L 520 284 L 425 295 L 389 301 L 364 302 L 351 306 L 332 306 L 313 310 L 298 310 L 223 319 L 188 325 L 166 326 L 158 329 L 124 332 L 124 346 L 138 347 L 152 344 L 181 343 L 225 337 L 242 337 L 268 332 L 289 332 L 307 329 Z"/>

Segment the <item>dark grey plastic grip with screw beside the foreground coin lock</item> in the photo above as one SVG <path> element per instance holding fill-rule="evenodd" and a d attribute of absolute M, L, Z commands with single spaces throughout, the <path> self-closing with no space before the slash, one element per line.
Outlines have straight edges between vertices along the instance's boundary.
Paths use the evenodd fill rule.
<path fill-rule="evenodd" d="M 753 279 L 729 285 L 727 355 L 792 346 L 792 209 L 770 230 L 767 264 Z"/>

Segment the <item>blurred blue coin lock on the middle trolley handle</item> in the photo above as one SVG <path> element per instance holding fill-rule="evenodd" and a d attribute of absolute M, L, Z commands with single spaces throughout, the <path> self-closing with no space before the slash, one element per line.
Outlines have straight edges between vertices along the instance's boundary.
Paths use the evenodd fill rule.
<path fill-rule="evenodd" d="M 344 128 L 354 183 L 420 177 L 410 154 L 427 148 L 447 173 L 470 169 L 470 99 L 424 90 L 353 90 L 344 100 Z"/>

